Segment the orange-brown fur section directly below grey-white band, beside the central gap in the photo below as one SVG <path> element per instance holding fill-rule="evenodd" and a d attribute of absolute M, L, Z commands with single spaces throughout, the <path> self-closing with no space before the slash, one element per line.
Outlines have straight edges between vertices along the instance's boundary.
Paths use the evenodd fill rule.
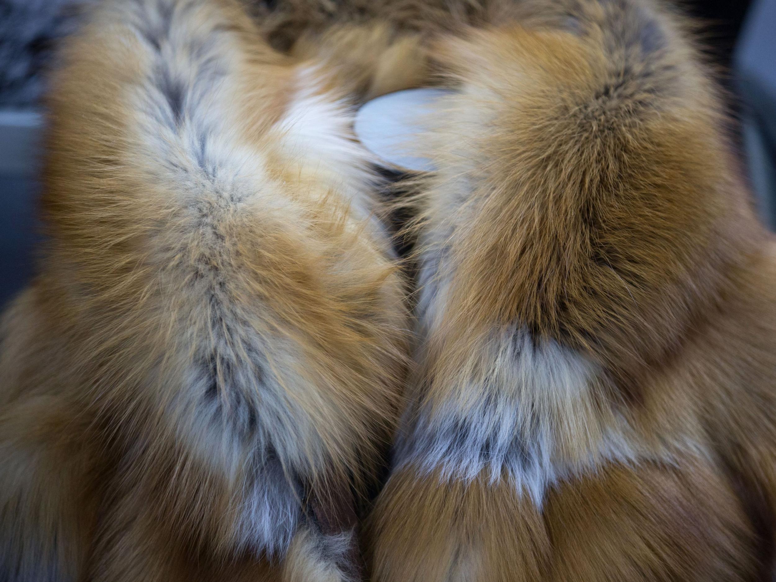
<path fill-rule="evenodd" d="M 539 580 L 549 555 L 542 515 L 504 483 L 394 473 L 369 524 L 375 580 Z M 494 509 L 497 508 L 497 511 Z"/>

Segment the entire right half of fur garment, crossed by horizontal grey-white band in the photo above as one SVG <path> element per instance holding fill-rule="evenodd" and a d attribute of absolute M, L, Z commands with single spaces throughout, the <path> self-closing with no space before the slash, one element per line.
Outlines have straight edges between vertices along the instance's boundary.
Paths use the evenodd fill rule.
<path fill-rule="evenodd" d="M 656 2 L 502 4 L 430 44 L 457 92 L 421 144 L 418 369 L 374 580 L 753 580 L 774 243 L 715 89 Z"/>

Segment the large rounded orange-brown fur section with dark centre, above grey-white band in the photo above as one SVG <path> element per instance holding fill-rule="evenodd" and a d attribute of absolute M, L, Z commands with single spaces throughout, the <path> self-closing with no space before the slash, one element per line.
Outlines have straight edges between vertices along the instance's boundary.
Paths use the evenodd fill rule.
<path fill-rule="evenodd" d="M 628 390 L 739 258 L 750 209 L 726 122 L 656 3 L 525 2 L 512 18 L 435 54 L 460 87 L 429 147 L 428 248 L 456 272 L 441 343 L 468 352 L 518 321 Z"/>

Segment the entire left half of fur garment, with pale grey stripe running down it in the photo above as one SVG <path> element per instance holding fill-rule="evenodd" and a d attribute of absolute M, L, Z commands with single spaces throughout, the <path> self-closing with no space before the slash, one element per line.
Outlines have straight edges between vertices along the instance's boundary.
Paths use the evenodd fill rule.
<path fill-rule="evenodd" d="M 62 58 L 0 579 L 350 580 L 407 316 L 333 68 L 228 0 L 107 0 Z"/>

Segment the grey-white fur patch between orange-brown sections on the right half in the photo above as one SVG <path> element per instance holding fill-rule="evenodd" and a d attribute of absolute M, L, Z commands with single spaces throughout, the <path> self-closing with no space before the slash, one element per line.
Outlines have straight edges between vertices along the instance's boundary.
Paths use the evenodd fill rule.
<path fill-rule="evenodd" d="M 494 372 L 482 383 L 461 379 L 433 411 L 431 404 L 407 411 L 395 464 L 438 471 L 443 480 L 508 480 L 539 504 L 557 473 L 557 413 L 589 398 L 594 368 L 521 328 L 494 338 L 489 350 L 481 365 Z"/>

